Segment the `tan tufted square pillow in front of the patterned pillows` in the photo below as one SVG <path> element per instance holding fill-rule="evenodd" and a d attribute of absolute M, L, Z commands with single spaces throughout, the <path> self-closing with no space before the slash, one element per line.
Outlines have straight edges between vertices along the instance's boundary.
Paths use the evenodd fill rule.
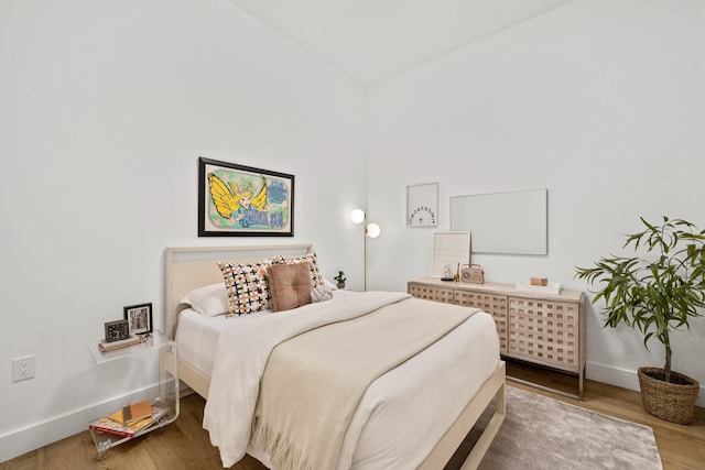
<path fill-rule="evenodd" d="M 272 264 L 268 266 L 269 293 L 274 311 L 291 310 L 311 304 L 311 266 L 308 263 Z"/>

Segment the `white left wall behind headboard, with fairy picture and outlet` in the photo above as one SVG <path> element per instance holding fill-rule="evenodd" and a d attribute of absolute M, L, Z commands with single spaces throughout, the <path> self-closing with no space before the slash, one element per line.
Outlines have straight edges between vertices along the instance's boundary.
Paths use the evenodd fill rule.
<path fill-rule="evenodd" d="M 162 327 L 165 247 L 313 242 L 361 287 L 365 92 L 226 0 L 0 2 L 0 461 L 145 386 L 87 345 Z M 294 239 L 198 239 L 198 156 L 294 174 Z"/>

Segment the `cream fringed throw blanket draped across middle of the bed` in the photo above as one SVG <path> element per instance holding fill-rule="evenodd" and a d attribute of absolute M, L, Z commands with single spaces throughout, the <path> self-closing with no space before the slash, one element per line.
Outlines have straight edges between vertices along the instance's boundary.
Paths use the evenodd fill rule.
<path fill-rule="evenodd" d="M 409 298 L 282 342 L 262 376 L 252 445 L 278 469 L 335 468 L 369 384 L 475 311 Z"/>

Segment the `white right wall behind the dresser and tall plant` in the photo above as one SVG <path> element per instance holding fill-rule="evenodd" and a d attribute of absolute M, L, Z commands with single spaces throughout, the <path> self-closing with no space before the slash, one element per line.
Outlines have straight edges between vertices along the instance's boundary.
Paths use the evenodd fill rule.
<path fill-rule="evenodd" d="M 639 216 L 705 227 L 703 51 L 701 1 L 576 1 L 371 86 L 370 219 L 382 234 L 369 285 L 405 289 L 430 273 L 436 229 L 405 227 L 410 184 L 440 183 L 437 230 L 449 229 L 451 196 L 549 189 L 549 254 L 474 255 L 494 282 L 541 275 L 587 291 L 574 266 L 618 252 Z M 587 375 L 634 389 L 662 348 L 603 329 L 599 310 L 587 310 Z M 674 341 L 674 368 L 705 383 L 705 320 Z"/>

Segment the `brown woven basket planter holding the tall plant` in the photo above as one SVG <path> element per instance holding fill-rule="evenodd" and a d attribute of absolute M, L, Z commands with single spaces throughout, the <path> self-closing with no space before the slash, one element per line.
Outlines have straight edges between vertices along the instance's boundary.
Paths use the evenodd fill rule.
<path fill-rule="evenodd" d="M 701 385 L 695 379 L 671 371 L 671 380 L 679 383 L 666 383 L 663 369 L 639 368 L 639 386 L 643 408 L 653 416 L 676 424 L 688 424 L 693 420 L 695 401 Z"/>

